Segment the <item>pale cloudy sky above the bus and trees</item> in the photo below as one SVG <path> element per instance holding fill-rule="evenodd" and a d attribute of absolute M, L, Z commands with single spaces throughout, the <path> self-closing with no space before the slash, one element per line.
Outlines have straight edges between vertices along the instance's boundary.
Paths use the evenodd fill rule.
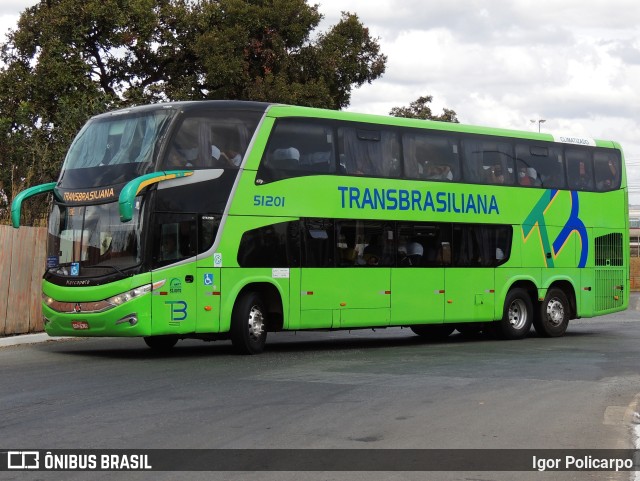
<path fill-rule="evenodd" d="M 619 141 L 640 204 L 640 1 L 311 0 L 321 28 L 357 13 L 388 56 L 349 110 L 388 114 L 421 95 L 463 123 Z M 2 0 L 0 32 L 35 0 Z M 531 122 L 534 120 L 535 122 Z"/>

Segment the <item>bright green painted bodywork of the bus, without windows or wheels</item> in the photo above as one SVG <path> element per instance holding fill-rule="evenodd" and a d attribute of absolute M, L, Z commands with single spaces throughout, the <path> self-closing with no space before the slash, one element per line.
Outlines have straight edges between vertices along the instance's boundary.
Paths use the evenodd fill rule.
<path fill-rule="evenodd" d="M 425 181 L 373 179 L 348 176 L 308 176 L 261 183 L 257 169 L 269 139 L 274 119 L 280 116 L 317 117 L 385 125 L 431 128 L 553 141 L 548 134 L 472 127 L 460 124 L 428 122 L 307 109 L 272 106 L 253 139 L 251 152 L 240 170 L 235 191 L 223 219 L 223 228 L 207 255 L 186 262 L 133 276 L 95 288 L 58 287 L 43 284 L 44 293 L 60 301 L 84 302 L 106 299 L 133 287 L 164 280 L 163 287 L 139 299 L 100 314 L 61 314 L 43 308 L 51 335 L 148 336 L 158 334 L 200 335 L 225 333 L 230 329 L 233 308 L 245 289 L 269 286 L 281 302 L 284 329 L 335 329 L 383 326 L 410 326 L 426 323 L 462 323 L 492 321 L 503 315 L 504 299 L 516 283 L 528 283 L 544 298 L 547 289 L 558 283 L 575 293 L 579 317 L 592 317 L 626 309 L 629 292 L 629 243 L 626 173 L 618 191 L 592 193 L 548 191 L 516 186 L 434 183 Z M 617 148 L 609 141 L 597 146 Z M 164 173 L 156 173 L 160 175 Z M 140 183 L 136 184 L 138 187 Z M 125 195 L 131 203 L 138 192 L 132 186 Z M 410 201 L 406 209 L 373 208 L 370 203 L 357 205 L 345 197 L 345 189 L 382 191 L 406 190 Z M 415 201 L 418 198 L 419 201 Z M 277 196 L 284 205 L 265 206 L 254 202 L 255 196 Z M 440 196 L 440 197 L 438 197 Z M 491 199 L 495 208 L 479 211 L 469 207 L 469 197 Z M 427 199 L 431 198 L 430 204 Z M 444 199 L 439 202 L 436 199 Z M 576 201 L 579 204 L 576 204 Z M 475 202 L 475 201 L 474 201 Z M 445 205 L 446 204 L 446 205 Z M 474 204 L 476 205 L 477 202 Z M 387 207 L 389 204 L 386 204 Z M 579 207 L 576 207 L 579 205 Z M 477 206 L 476 206 L 477 207 Z M 577 209 L 584 225 L 571 230 L 566 226 Z M 124 208 L 124 217 L 128 210 Z M 333 268 L 282 271 L 270 268 L 240 268 L 238 245 L 248 230 L 304 217 L 430 221 L 456 223 L 507 224 L 513 227 L 509 260 L 497 268 Z M 563 234 L 564 230 L 564 234 Z M 596 269 L 593 239 L 611 232 L 622 234 L 625 265 Z M 586 238 L 584 237 L 586 235 Z M 558 239 L 562 242 L 558 243 Z M 554 245 L 554 242 L 556 243 Z M 583 243 L 588 243 L 585 251 Z M 215 251 L 215 252 L 214 252 Z M 583 252 L 586 256 L 582 257 Z M 214 255 L 215 254 L 215 255 Z M 214 258 L 218 257 L 218 261 Z M 221 260 L 220 260 L 221 259 Z M 584 262 L 584 267 L 578 267 Z M 597 274 L 599 271 L 600 274 Z M 618 276 L 620 292 L 611 292 L 606 308 L 598 308 L 595 298 L 596 276 Z M 205 275 L 213 275 L 213 285 L 205 285 Z M 192 282 L 186 279 L 193 276 Z M 138 315 L 135 326 L 115 325 L 130 313 Z M 74 331 L 70 321 L 86 320 L 91 328 Z"/>

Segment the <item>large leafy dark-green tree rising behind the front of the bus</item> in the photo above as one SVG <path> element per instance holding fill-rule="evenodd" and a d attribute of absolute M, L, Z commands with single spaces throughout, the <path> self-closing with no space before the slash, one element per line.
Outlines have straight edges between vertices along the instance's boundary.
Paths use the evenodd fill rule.
<path fill-rule="evenodd" d="M 386 56 L 357 15 L 321 19 L 306 0 L 41 0 L 0 49 L 0 189 L 54 180 L 82 124 L 116 107 L 348 106 Z"/>

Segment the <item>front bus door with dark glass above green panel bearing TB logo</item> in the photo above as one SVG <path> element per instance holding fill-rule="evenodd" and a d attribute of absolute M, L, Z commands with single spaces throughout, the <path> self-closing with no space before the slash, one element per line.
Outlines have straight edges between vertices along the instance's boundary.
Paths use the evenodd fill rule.
<path fill-rule="evenodd" d="M 151 280 L 152 334 L 195 332 L 197 313 L 196 216 L 156 214 Z"/>

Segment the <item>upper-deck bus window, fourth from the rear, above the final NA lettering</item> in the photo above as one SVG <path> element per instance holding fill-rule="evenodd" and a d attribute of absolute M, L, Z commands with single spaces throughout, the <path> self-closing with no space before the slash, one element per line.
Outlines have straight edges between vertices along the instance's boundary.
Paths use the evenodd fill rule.
<path fill-rule="evenodd" d="M 513 185 L 513 147 L 506 142 L 465 140 L 464 178 L 468 182 Z"/>

